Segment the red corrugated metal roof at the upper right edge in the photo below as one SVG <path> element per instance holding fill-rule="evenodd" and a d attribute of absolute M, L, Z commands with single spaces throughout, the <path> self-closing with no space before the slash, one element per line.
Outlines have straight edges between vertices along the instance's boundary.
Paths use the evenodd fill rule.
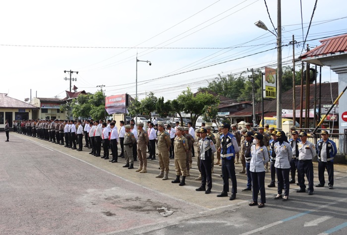
<path fill-rule="evenodd" d="M 332 56 L 336 54 L 345 54 L 345 52 L 347 52 L 347 34 L 323 39 L 319 42 L 322 43 L 322 45 L 306 52 L 300 56 L 300 58 L 306 59 L 309 57 Z"/>

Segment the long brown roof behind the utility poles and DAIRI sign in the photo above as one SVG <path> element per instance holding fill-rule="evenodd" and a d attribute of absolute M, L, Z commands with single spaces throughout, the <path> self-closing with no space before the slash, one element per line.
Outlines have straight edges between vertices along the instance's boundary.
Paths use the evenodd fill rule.
<path fill-rule="evenodd" d="M 306 86 L 303 86 L 303 103 L 302 107 L 305 109 L 306 107 L 306 99 L 305 99 L 305 89 Z M 295 109 L 300 109 L 300 90 L 301 86 L 295 86 Z M 321 104 L 322 105 L 332 105 L 336 98 L 339 96 L 339 83 L 322 83 L 321 84 Z M 317 107 L 318 107 L 318 97 L 319 97 L 319 83 L 317 84 Z M 310 84 L 310 109 L 314 108 L 314 84 Z M 332 100 L 333 99 L 333 100 Z M 264 115 L 268 116 L 276 116 L 276 103 L 277 100 L 272 101 L 264 101 Z M 293 109 L 293 90 L 290 89 L 282 94 L 282 109 Z M 230 117 L 245 117 L 252 115 L 252 107 L 244 109 L 240 112 L 233 113 L 229 115 Z M 255 105 L 255 115 L 261 115 L 261 103 Z"/>

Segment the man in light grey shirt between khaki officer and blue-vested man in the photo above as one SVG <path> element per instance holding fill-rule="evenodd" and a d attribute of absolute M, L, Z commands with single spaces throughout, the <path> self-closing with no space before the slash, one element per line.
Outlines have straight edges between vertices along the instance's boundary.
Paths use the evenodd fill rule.
<path fill-rule="evenodd" d="M 200 144 L 200 170 L 201 170 L 201 186 L 196 191 L 205 191 L 206 194 L 211 193 L 212 189 L 212 155 L 216 152 L 215 145 L 213 141 L 207 137 L 207 130 L 205 128 L 200 128 L 199 133 L 201 139 Z M 207 182 L 207 189 L 206 189 Z"/>

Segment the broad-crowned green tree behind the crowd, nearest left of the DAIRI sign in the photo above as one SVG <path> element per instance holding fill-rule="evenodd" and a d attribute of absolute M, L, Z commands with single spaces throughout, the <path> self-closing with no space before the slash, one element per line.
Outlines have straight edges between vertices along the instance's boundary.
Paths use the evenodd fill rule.
<path fill-rule="evenodd" d="M 190 114 L 190 119 L 195 126 L 196 119 L 204 113 L 205 106 L 219 105 L 219 97 L 208 92 L 193 94 L 188 88 L 177 96 L 177 102 L 183 107 L 183 112 Z"/>

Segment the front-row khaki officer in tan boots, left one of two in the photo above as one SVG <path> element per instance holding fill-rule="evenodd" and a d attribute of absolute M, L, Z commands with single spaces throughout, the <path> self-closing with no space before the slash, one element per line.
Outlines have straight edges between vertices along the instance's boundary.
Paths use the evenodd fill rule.
<path fill-rule="evenodd" d="M 149 143 L 149 138 L 147 132 L 143 129 L 143 122 L 137 125 L 137 156 L 140 161 L 140 166 L 136 172 L 147 173 L 147 144 Z"/>

